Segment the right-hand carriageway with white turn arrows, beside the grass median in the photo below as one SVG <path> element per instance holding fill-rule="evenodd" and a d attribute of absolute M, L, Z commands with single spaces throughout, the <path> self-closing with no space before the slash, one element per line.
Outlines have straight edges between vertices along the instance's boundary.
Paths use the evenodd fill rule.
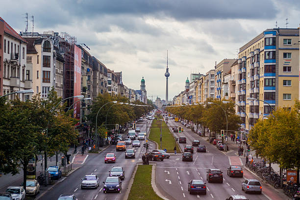
<path fill-rule="evenodd" d="M 180 123 L 175 123 L 174 120 L 169 120 L 168 125 L 182 126 Z M 243 163 L 241 159 L 236 156 L 228 156 L 226 153 L 218 150 L 207 141 L 204 141 L 200 136 L 186 127 L 182 133 L 177 133 L 176 136 L 185 136 L 187 138 L 187 144 L 180 144 L 182 150 L 186 145 L 192 145 L 192 141 L 197 139 L 200 140 L 200 144 L 206 146 L 207 151 L 206 153 L 198 153 L 196 152 L 196 147 L 194 147 L 193 162 L 183 162 L 181 154 L 171 156 L 169 160 L 164 160 L 163 162 L 156 162 L 156 185 L 160 192 L 168 199 L 225 200 L 226 198 L 229 198 L 230 195 L 239 194 L 246 196 L 249 200 L 268 200 L 264 194 L 245 194 L 245 192 L 241 190 L 241 183 L 245 179 L 229 177 L 227 175 L 226 170 L 230 166 L 229 162 L 231 162 L 232 165 L 242 166 Z M 223 183 L 208 183 L 206 180 L 206 172 L 208 168 L 217 168 L 222 170 L 224 176 Z M 254 175 L 250 174 L 247 170 L 243 171 L 244 177 L 255 178 Z M 190 195 L 187 183 L 191 179 L 204 180 L 207 186 L 207 194 Z"/>

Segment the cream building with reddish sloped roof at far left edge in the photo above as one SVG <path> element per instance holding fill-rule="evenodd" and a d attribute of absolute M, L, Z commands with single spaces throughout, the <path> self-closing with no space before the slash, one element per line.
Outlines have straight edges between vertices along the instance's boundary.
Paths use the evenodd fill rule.
<path fill-rule="evenodd" d="M 1 82 L 3 95 L 32 88 L 32 70 L 26 65 L 26 44 L 27 41 L 21 37 L 10 25 L 2 18 L 3 36 L 0 41 L 3 45 L 3 73 Z M 2 69 L 2 68 L 1 68 Z M 18 94 L 21 100 L 30 99 L 31 94 Z M 15 95 L 9 95 L 9 100 L 15 99 Z"/>

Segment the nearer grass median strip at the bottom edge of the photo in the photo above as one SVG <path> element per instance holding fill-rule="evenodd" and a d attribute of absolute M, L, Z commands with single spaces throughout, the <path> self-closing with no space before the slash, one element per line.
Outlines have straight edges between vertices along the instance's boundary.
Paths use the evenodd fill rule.
<path fill-rule="evenodd" d="M 151 186 L 152 165 L 139 165 L 127 200 L 162 200 Z"/>

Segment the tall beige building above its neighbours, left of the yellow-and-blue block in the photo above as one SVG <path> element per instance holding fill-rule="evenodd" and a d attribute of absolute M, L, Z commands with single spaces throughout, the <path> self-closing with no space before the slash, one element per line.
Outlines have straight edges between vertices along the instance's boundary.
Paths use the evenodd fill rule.
<path fill-rule="evenodd" d="M 224 75 L 229 72 L 231 65 L 236 59 L 224 59 L 215 66 L 215 98 L 221 100 L 225 97 L 222 92 L 222 85 L 224 82 Z"/>

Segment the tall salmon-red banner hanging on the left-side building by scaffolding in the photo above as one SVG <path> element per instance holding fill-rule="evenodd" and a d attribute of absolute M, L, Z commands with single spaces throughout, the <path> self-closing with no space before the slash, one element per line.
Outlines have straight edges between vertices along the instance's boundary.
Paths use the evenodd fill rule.
<path fill-rule="evenodd" d="M 81 49 L 74 45 L 74 96 L 81 95 Z M 79 100 L 74 98 L 74 102 Z M 78 101 L 74 104 L 74 118 L 80 118 L 80 103 Z"/>

